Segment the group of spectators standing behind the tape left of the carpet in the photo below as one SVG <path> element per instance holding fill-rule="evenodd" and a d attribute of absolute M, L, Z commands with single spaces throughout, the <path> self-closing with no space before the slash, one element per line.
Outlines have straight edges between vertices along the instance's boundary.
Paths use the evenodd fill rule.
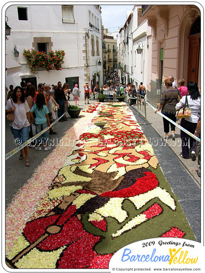
<path fill-rule="evenodd" d="M 45 129 L 36 142 L 31 142 L 29 146 L 20 150 L 19 160 L 24 159 L 25 165 L 30 166 L 28 154 L 29 147 L 36 150 L 42 150 L 41 145 L 44 144 L 44 150 L 51 149 L 49 146 L 49 134 L 58 134 L 54 131 L 51 124 L 58 117 L 59 122 L 67 121 L 66 109 L 70 95 L 72 94 L 69 85 L 59 81 L 57 85 L 50 83 L 39 83 L 37 90 L 30 82 L 25 84 L 24 81 L 14 88 L 10 85 L 8 92 L 8 100 L 6 103 L 6 115 L 12 115 L 10 120 L 10 129 L 14 135 L 17 145 L 23 144 L 31 139 L 34 135 Z M 73 88 L 73 98 L 75 104 L 79 105 L 79 89 L 75 84 Z M 57 117 L 56 117 L 57 112 Z M 11 116 L 10 116 L 11 118 Z M 47 127 L 50 127 L 46 130 Z"/>

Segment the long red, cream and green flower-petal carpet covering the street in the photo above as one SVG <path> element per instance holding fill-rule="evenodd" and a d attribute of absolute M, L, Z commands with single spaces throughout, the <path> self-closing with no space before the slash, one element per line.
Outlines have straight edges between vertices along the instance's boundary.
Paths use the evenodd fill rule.
<path fill-rule="evenodd" d="M 11 268 L 104 269 L 136 241 L 195 240 L 128 106 L 95 103 L 82 114 L 6 211 Z"/>

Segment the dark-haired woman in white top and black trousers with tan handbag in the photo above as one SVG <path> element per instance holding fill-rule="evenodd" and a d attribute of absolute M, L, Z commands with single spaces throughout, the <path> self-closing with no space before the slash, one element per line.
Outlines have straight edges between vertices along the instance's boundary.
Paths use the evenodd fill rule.
<path fill-rule="evenodd" d="M 181 119 L 181 126 L 185 128 L 187 131 L 194 134 L 196 130 L 196 125 L 198 122 L 198 111 L 200 109 L 200 94 L 198 91 L 198 86 L 196 82 L 189 81 L 187 85 L 188 96 L 182 97 L 180 102 L 176 105 L 176 110 L 181 109 L 186 106 L 191 109 L 191 116 Z M 191 150 L 191 158 L 192 161 L 196 160 L 196 140 L 191 138 L 187 133 L 181 130 L 181 140 L 182 140 L 182 158 L 189 158 L 189 146 Z"/>

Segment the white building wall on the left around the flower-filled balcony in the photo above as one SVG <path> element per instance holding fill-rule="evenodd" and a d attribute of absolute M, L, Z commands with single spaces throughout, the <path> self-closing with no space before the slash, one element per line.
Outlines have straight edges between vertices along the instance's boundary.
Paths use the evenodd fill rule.
<path fill-rule="evenodd" d="M 83 16 L 82 16 L 83 15 Z M 6 86 L 20 85 L 23 80 L 37 87 L 40 82 L 57 85 L 67 82 L 70 88 L 78 83 L 84 94 L 84 84 L 103 84 L 101 7 L 99 5 L 11 5 L 6 9 L 11 35 L 6 40 L 8 67 L 18 66 L 15 73 L 6 71 Z M 19 57 L 14 56 L 14 48 Z M 34 73 L 23 56 L 25 50 L 64 50 L 62 70 L 47 72 L 44 68 Z M 19 65 L 21 67 L 19 67 Z M 82 93 L 81 93 L 82 94 Z"/>

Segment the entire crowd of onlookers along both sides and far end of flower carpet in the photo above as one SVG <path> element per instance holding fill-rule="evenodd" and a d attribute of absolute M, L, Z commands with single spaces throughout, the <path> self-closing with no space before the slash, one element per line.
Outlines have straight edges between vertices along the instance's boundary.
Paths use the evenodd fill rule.
<path fill-rule="evenodd" d="M 161 113 L 165 117 L 176 122 L 176 111 L 183 108 L 186 103 L 188 103 L 187 107 L 191 109 L 191 116 L 180 119 L 180 125 L 199 137 L 200 93 L 197 84 L 190 81 L 188 85 L 185 86 L 185 80 L 179 79 L 177 86 L 173 76 L 165 79 L 164 82 L 167 89 L 162 93 L 160 105 L 155 113 L 161 110 Z M 132 83 L 120 83 L 115 72 L 107 77 L 107 83 L 101 85 L 100 88 L 97 84 L 93 90 L 91 90 L 89 82 L 86 81 L 84 91 L 85 104 L 90 104 L 89 101 L 91 99 L 98 101 L 99 94 L 105 95 L 105 101 L 107 102 L 116 102 L 118 97 L 127 96 L 130 105 L 136 105 L 137 100 L 139 101 L 139 104 L 144 104 L 146 95 L 146 88 L 143 85 L 143 82 L 140 82 L 136 89 L 136 86 Z M 48 126 L 50 127 L 56 119 L 56 112 L 59 122 L 67 121 L 66 108 L 71 94 L 75 105 L 79 106 L 80 91 L 77 84 L 74 85 L 72 91 L 67 83 L 62 85 L 60 81 L 58 81 L 57 85 L 39 83 L 37 90 L 30 82 L 25 85 L 25 82 L 22 81 L 20 86 L 16 86 L 15 88 L 13 85 L 10 85 L 8 101 L 6 104 L 6 114 L 14 113 L 14 120 L 11 121 L 10 128 L 15 140 L 20 139 L 21 143 L 24 143 L 28 138 L 32 138 L 32 136 L 46 129 Z M 165 140 L 169 139 L 171 126 L 172 139 L 175 140 L 176 126 L 165 117 L 163 117 L 164 138 Z M 49 134 L 57 134 L 57 132 L 54 131 L 54 127 L 50 127 L 49 131 L 45 130 L 43 134 L 45 151 L 51 149 L 48 145 Z M 191 136 L 183 130 L 180 130 L 180 134 L 182 141 L 181 157 L 188 159 L 190 148 L 192 161 L 195 161 L 198 156 L 198 163 L 200 165 L 200 152 L 198 152 L 200 151 L 200 143 L 197 142 L 196 145 L 196 140 L 191 138 Z M 34 142 L 30 143 L 29 147 L 35 148 L 36 150 L 42 150 L 42 147 L 40 146 L 42 143 L 43 138 L 42 135 L 40 135 L 37 138 L 37 144 L 35 145 Z M 22 160 L 25 155 L 26 166 L 30 166 L 28 151 L 28 146 L 24 147 L 20 150 L 19 156 L 19 160 Z M 200 167 L 198 175 L 200 176 Z"/>

